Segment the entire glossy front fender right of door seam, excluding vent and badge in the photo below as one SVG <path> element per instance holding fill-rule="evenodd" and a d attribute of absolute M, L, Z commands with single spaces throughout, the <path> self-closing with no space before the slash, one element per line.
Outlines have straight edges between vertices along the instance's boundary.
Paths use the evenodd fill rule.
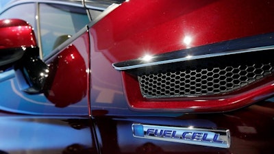
<path fill-rule="evenodd" d="M 245 105 L 236 105 L 229 110 L 216 106 L 218 110 L 211 110 L 212 106 L 209 105 L 197 114 L 196 110 L 176 108 L 177 105 L 184 105 L 184 101 L 195 98 L 179 98 L 176 103 L 170 99 L 148 101 L 140 94 L 132 74 L 112 68 L 112 64 L 125 62 L 126 65 L 130 60 L 140 60 L 146 54 L 153 56 L 173 51 L 195 51 L 195 47 L 271 34 L 274 31 L 272 21 L 262 18 L 273 16 L 273 6 L 269 1 L 198 3 L 132 0 L 126 1 L 94 25 L 91 23 L 90 106 L 101 153 L 273 153 L 273 99 L 268 99 L 273 95 L 273 84 L 258 84 L 260 88 L 269 88 L 267 94 L 260 93 L 260 90 L 253 97 L 245 93 L 251 104 L 255 103 L 253 105 L 245 102 Z M 191 38 L 190 42 L 184 42 L 186 36 Z M 273 81 L 272 76 L 266 80 Z M 252 91 L 256 86 L 249 88 Z M 234 94 L 235 98 L 239 96 L 236 92 Z M 242 100 L 243 96 L 240 95 L 241 98 L 238 97 L 235 102 Z M 146 110 L 136 110 L 134 105 L 142 103 L 140 100 L 145 100 L 143 106 L 147 107 Z M 153 107 L 157 103 L 162 104 L 160 110 Z M 199 103 L 208 105 L 207 102 Z M 231 145 L 220 149 L 162 139 L 135 138 L 133 124 L 228 129 Z M 111 149 L 109 145 L 112 145 Z"/>

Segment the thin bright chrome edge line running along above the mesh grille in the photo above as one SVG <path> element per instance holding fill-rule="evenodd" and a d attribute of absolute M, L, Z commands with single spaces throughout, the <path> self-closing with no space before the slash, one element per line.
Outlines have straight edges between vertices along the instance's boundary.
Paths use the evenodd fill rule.
<path fill-rule="evenodd" d="M 132 61 L 127 61 L 123 62 L 123 65 L 125 66 L 117 66 L 118 63 L 112 64 L 112 66 L 116 70 L 129 70 L 129 69 L 134 69 L 134 68 L 141 68 L 141 67 L 147 67 L 147 66 L 155 66 L 159 64 L 170 64 L 173 62 L 184 62 L 187 60 L 198 60 L 202 58 L 207 58 L 207 57 L 218 57 L 218 56 L 223 56 L 223 55 L 234 55 L 234 54 L 239 54 L 239 53 L 249 53 L 249 52 L 254 52 L 254 51 L 264 51 L 264 50 L 271 50 L 274 49 L 274 45 L 269 46 L 269 47 L 257 47 L 257 48 L 252 48 L 252 49 L 242 49 L 242 50 L 236 50 L 236 51 L 226 51 L 222 53 L 213 53 L 213 54 L 206 54 L 206 55 L 187 55 L 186 57 L 181 57 L 181 58 L 176 58 L 176 59 L 171 59 L 171 60 L 163 60 L 159 62 L 148 62 L 145 63 L 145 60 L 143 58 L 139 58 L 138 60 L 132 60 Z M 151 60 L 153 60 L 155 57 L 151 57 Z M 139 63 L 135 65 L 130 65 L 131 62 Z M 121 63 L 120 63 L 121 64 Z M 129 65 L 129 66 L 126 66 Z"/>

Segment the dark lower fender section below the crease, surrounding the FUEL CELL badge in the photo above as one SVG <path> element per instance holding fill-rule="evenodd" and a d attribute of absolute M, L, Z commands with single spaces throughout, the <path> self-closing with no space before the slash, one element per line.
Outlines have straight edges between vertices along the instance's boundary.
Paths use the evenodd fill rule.
<path fill-rule="evenodd" d="M 228 149 L 135 138 L 132 124 L 229 129 Z M 168 117 L 98 116 L 101 153 L 273 153 L 273 102 L 220 114 L 184 114 Z M 159 131 L 158 131 L 159 133 Z M 112 145 L 111 148 L 109 145 Z"/>

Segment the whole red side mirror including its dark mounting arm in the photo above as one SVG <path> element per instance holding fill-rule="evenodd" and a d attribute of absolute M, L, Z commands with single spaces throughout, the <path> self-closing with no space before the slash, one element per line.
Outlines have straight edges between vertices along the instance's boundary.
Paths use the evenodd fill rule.
<path fill-rule="evenodd" d="M 0 69 L 14 66 L 21 90 L 41 92 L 49 70 L 38 58 L 32 26 L 20 19 L 5 19 L 0 21 L 0 33 Z"/>

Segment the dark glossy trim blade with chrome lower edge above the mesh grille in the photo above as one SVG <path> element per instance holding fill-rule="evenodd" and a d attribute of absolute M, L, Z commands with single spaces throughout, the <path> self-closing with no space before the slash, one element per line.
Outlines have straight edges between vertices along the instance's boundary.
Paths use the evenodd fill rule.
<path fill-rule="evenodd" d="M 207 44 L 190 49 L 182 49 L 160 55 L 153 55 L 147 60 L 140 57 L 135 60 L 117 62 L 112 64 L 116 70 L 129 70 L 159 64 L 169 64 L 173 62 L 184 62 L 187 60 L 198 60 L 208 57 L 217 57 L 223 55 L 233 55 L 240 53 L 249 53 L 255 51 L 264 51 L 274 49 L 274 33 L 261 34 L 258 36 L 249 36 L 235 40 L 227 40 L 214 44 Z"/>

